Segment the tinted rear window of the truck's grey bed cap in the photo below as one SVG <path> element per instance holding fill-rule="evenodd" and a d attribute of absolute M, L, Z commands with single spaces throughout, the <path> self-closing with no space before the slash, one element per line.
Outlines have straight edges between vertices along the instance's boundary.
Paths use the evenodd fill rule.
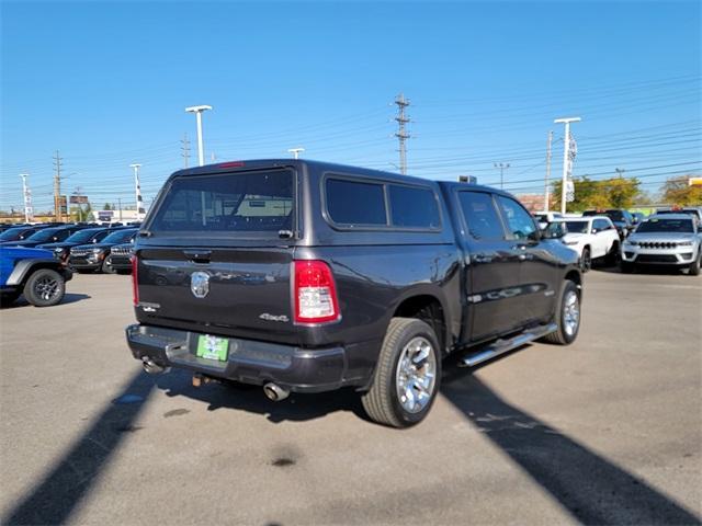
<path fill-rule="evenodd" d="M 185 237 L 291 230 L 293 187 L 290 170 L 177 178 L 147 229 Z"/>

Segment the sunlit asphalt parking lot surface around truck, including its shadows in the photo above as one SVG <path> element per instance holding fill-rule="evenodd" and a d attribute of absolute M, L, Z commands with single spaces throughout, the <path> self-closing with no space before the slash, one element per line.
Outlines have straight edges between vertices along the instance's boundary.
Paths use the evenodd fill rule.
<path fill-rule="evenodd" d="M 448 367 L 406 431 L 147 376 L 129 277 L 68 291 L 1 312 L 3 524 L 700 523 L 702 278 L 588 273 L 576 344 Z"/>

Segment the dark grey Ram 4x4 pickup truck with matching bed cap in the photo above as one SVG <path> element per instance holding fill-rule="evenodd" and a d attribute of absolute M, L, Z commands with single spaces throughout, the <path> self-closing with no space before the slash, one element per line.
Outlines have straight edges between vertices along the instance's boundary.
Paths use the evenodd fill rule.
<path fill-rule="evenodd" d="M 272 400 L 352 386 L 397 427 L 427 415 L 445 356 L 569 344 L 582 299 L 577 253 L 505 192 L 290 159 L 173 173 L 132 275 L 147 371 Z"/>

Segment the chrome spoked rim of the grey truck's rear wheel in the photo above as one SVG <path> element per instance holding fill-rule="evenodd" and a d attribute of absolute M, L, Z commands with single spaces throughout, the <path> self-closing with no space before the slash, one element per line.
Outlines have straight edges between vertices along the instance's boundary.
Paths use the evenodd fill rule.
<path fill-rule="evenodd" d="M 437 354 L 429 340 L 412 338 L 399 355 L 395 386 L 403 409 L 418 413 L 427 407 L 437 384 Z"/>

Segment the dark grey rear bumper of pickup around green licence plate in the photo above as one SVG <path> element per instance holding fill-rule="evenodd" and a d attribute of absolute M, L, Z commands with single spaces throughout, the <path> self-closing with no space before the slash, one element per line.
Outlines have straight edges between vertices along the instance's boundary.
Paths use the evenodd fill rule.
<path fill-rule="evenodd" d="M 347 353 L 343 347 L 306 350 L 291 345 L 228 338 L 226 362 L 195 355 L 201 333 L 134 324 L 126 328 L 132 354 L 150 358 L 165 367 L 242 384 L 272 381 L 296 392 L 321 392 L 351 385 L 344 379 Z"/>

